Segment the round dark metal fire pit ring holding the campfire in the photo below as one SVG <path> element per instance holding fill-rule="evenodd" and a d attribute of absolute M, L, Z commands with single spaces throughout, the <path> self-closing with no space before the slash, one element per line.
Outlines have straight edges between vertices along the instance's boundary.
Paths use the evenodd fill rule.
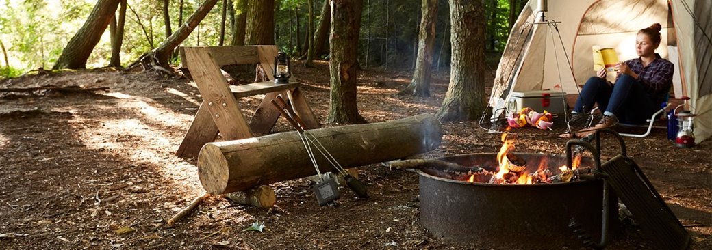
<path fill-rule="evenodd" d="M 550 168 L 566 165 L 565 156 L 518 153 L 534 172 L 542 158 Z M 496 170 L 496 153 L 476 153 L 439 158 L 464 166 Z M 583 158 L 582 166 L 593 166 Z M 533 168 L 533 169 L 530 169 Z M 571 219 L 585 229 L 592 241 L 601 239 L 603 181 L 535 185 L 486 184 L 491 175 L 476 175 L 475 183 L 442 178 L 438 170 L 422 168 L 420 175 L 420 222 L 436 237 L 462 244 L 515 249 L 578 248 L 579 239 L 569 227 Z M 483 183 L 477 183 L 483 182 Z M 614 202 L 612 202 L 614 203 Z M 617 206 L 609 207 L 616 211 Z M 609 210 L 609 211 L 611 211 Z M 609 217 L 616 212 L 609 212 Z M 615 219 L 609 219 L 614 221 Z"/>

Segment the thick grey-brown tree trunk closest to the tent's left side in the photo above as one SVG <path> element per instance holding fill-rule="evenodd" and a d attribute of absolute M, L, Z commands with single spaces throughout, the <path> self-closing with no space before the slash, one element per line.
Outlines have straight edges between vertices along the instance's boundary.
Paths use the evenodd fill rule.
<path fill-rule="evenodd" d="M 450 84 L 437 113 L 443 121 L 476 120 L 485 107 L 485 17 L 481 0 L 450 0 Z"/>

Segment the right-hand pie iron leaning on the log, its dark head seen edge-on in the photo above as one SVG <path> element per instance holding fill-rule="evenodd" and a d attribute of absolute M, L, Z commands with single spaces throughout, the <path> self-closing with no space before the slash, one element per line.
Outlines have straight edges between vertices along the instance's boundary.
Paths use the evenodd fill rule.
<path fill-rule="evenodd" d="M 293 102 L 293 97 L 291 92 L 287 92 L 287 97 L 292 105 L 294 105 Z M 300 134 L 303 134 L 305 140 L 310 143 L 311 146 L 316 148 L 319 153 L 321 153 L 324 158 L 335 168 L 343 177 L 345 180 L 346 185 L 361 199 L 368 199 L 368 192 L 366 190 L 366 186 L 360 182 L 360 180 L 356 179 L 348 173 L 342 166 L 339 164 L 338 161 L 336 161 L 336 158 L 329 153 L 328 150 L 326 150 L 326 147 L 312 134 L 310 131 L 308 131 L 304 125 L 304 121 L 301 119 L 301 117 L 295 113 L 295 107 L 294 106 L 289 106 L 287 102 L 281 97 L 277 96 L 275 98 L 277 102 L 281 103 L 281 107 L 285 107 L 284 110 L 288 112 L 288 114 L 285 115 L 286 119 L 293 119 L 294 122 L 290 122 L 293 126 L 295 126 L 295 129 L 297 131 L 300 131 Z M 290 109 L 291 108 L 291 109 Z"/>

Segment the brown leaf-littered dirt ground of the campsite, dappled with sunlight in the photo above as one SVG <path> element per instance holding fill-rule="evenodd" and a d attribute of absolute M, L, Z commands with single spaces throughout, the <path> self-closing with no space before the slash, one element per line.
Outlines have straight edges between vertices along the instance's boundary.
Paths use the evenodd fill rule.
<path fill-rule="evenodd" d="M 323 122 L 327 62 L 294 66 L 315 115 L 323 126 L 334 126 Z M 434 114 L 448 72 L 436 73 L 429 99 L 395 97 L 409 74 L 360 71 L 362 116 L 377 122 Z M 174 156 L 201 102 L 197 89 L 185 79 L 112 70 L 0 82 L 0 88 L 49 85 L 109 89 L 0 92 L 0 249 L 506 249 L 496 242 L 460 244 L 429 234 L 419 223 L 417 174 L 377 164 L 357 168 L 370 200 L 342 189 L 336 207 L 319 207 L 313 183 L 290 180 L 271 185 L 277 204 L 269 210 L 214 196 L 167 227 L 167 219 L 204 193 L 196 158 Z M 239 100 L 246 116 L 260 98 Z M 291 131 L 283 119 L 273 129 L 280 131 Z M 501 146 L 499 134 L 476 122 L 444 122 L 443 133 L 441 146 L 422 157 L 493 153 Z M 520 152 L 564 152 L 563 138 L 520 138 Z M 676 148 L 656 129 L 625 142 L 629 156 L 689 230 L 691 249 L 712 249 L 711 141 Z M 604 145 L 614 143 L 604 140 Z M 616 152 L 615 146 L 604 146 L 603 158 Z M 244 230 L 253 222 L 263 222 L 263 232 Z M 654 248 L 634 224 L 624 223 L 614 239 L 609 249 Z"/>

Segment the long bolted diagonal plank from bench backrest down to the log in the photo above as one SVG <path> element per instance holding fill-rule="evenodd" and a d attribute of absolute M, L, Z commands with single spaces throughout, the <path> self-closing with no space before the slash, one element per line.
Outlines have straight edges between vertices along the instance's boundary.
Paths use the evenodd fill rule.
<path fill-rule="evenodd" d="M 210 49 L 186 48 L 185 55 L 198 90 L 223 138 L 236 140 L 252 137 L 220 67 L 211 58 Z"/>

